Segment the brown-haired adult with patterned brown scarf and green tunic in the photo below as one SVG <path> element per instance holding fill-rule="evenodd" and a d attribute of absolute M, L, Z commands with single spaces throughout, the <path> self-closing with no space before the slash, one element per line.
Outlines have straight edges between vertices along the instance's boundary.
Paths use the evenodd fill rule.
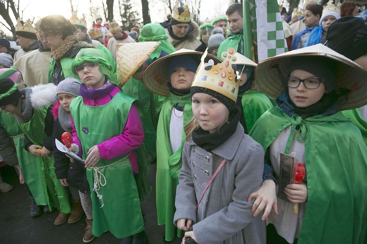
<path fill-rule="evenodd" d="M 75 26 L 62 15 L 46 16 L 37 22 L 36 28 L 52 52 L 48 81 L 57 85 L 67 77 L 79 79 L 73 74 L 71 63 L 80 49 L 95 46 L 78 41 Z"/>

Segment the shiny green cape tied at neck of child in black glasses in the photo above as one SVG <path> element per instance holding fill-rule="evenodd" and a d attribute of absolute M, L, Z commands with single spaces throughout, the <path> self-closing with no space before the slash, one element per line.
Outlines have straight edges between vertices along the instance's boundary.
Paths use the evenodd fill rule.
<path fill-rule="evenodd" d="M 363 243 L 367 147 L 360 131 L 341 112 L 303 120 L 274 107 L 259 118 L 250 136 L 266 150 L 288 126 L 291 134 L 284 153 L 294 133 L 305 144 L 308 200 L 298 243 Z"/>

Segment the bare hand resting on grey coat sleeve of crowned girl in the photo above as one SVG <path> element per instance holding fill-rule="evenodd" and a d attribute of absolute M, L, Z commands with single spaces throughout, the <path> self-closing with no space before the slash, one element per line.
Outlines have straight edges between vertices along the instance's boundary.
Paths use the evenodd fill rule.
<path fill-rule="evenodd" d="M 278 206 L 276 204 L 276 190 L 275 182 L 273 180 L 264 181 L 260 188 L 252 192 L 247 201 L 251 202 L 252 198 L 256 198 L 252 205 L 253 216 L 258 216 L 262 210 L 265 208 L 264 214 L 262 215 L 262 220 L 265 221 L 268 218 L 270 211 L 273 208 L 275 214 L 278 214 Z"/>

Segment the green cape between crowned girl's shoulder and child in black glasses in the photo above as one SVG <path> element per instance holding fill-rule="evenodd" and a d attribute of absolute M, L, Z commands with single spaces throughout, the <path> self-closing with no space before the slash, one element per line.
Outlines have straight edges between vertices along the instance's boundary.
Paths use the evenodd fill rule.
<path fill-rule="evenodd" d="M 247 90 L 242 94 L 238 94 L 238 97 L 241 97 L 242 112 L 246 120 L 247 130 L 251 131 L 257 119 L 266 110 L 272 108 L 273 104 L 265 93 L 260 91 Z"/>

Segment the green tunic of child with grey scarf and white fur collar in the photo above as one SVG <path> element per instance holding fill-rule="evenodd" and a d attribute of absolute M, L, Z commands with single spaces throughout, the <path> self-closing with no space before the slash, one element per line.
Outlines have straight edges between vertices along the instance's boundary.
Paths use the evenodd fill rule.
<path fill-rule="evenodd" d="M 18 123 L 29 140 L 36 145 L 43 146 L 43 142 L 47 138 L 45 133 L 45 118 L 49 106 L 46 105 L 43 108 L 34 109 L 33 116 L 28 122 Z M 49 159 L 38 156 L 36 157 L 36 161 L 42 188 L 46 195 L 46 203 L 49 208 L 56 207 L 63 213 L 71 213 L 66 188 L 56 178 L 53 154 L 50 155 Z"/>

